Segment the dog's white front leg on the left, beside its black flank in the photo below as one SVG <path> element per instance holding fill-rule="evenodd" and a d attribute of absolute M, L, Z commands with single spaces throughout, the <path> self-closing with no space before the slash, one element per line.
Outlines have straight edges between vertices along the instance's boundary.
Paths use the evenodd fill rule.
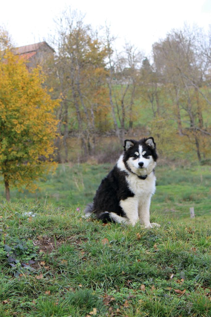
<path fill-rule="evenodd" d="M 125 200 L 120 200 L 120 206 L 133 226 L 138 222 L 138 200 L 135 197 L 128 197 Z"/>

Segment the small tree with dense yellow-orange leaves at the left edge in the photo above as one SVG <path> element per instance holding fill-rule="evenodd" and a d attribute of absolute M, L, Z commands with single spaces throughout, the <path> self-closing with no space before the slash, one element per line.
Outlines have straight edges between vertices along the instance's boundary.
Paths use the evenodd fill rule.
<path fill-rule="evenodd" d="M 26 186 L 55 165 L 54 139 L 57 121 L 43 87 L 41 68 L 28 70 L 25 61 L 10 51 L 0 63 L 0 174 L 10 200 L 10 187 Z"/>

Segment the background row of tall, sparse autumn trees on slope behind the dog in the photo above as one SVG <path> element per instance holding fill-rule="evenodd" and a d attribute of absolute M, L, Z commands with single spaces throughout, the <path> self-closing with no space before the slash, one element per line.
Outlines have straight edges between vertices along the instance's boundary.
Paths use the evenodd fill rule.
<path fill-rule="evenodd" d="M 209 159 L 210 30 L 171 30 L 146 57 L 129 42 L 116 51 L 111 28 L 98 32 L 77 12 L 55 23 L 55 55 L 43 70 L 52 99 L 60 99 L 58 162 L 98 157 L 103 147 L 109 160 L 125 137 L 149 134 L 163 157 Z"/>

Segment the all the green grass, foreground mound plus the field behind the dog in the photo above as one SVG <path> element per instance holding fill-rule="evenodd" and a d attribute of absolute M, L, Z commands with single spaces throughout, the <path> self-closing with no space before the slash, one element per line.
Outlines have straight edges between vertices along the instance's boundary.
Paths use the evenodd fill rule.
<path fill-rule="evenodd" d="M 211 167 L 157 167 L 150 230 L 82 217 L 110 168 L 60 165 L 1 200 L 0 317 L 211 316 Z"/>

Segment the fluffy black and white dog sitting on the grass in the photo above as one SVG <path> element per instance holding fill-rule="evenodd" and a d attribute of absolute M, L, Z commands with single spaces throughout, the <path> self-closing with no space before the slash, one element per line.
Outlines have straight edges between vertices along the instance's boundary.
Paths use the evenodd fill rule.
<path fill-rule="evenodd" d="M 150 223 L 150 201 L 156 182 L 154 139 L 125 140 L 124 149 L 117 164 L 99 185 L 93 203 L 86 206 L 86 216 L 94 213 L 103 222 L 135 225 L 139 221 L 146 228 L 159 227 L 157 223 Z"/>

